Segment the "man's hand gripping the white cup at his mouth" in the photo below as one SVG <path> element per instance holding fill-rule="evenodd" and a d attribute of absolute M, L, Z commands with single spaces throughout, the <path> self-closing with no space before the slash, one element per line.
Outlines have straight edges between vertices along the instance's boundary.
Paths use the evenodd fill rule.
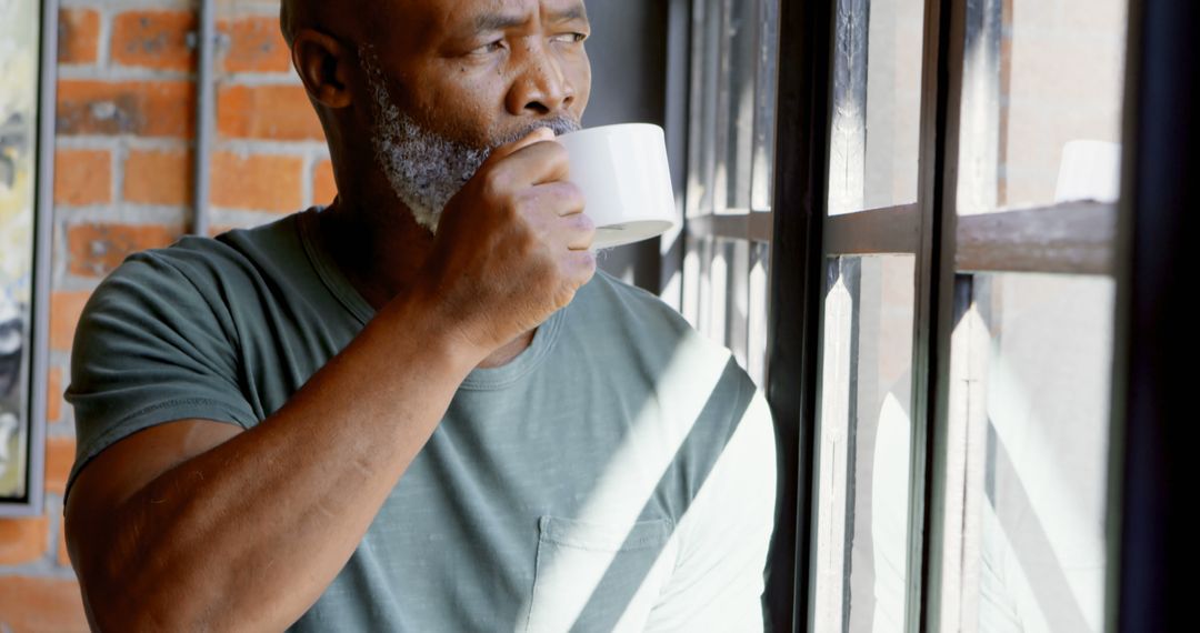
<path fill-rule="evenodd" d="M 482 356 L 541 325 L 595 273 L 595 227 L 540 128 L 502 146 L 450 200 L 418 291 Z"/>

